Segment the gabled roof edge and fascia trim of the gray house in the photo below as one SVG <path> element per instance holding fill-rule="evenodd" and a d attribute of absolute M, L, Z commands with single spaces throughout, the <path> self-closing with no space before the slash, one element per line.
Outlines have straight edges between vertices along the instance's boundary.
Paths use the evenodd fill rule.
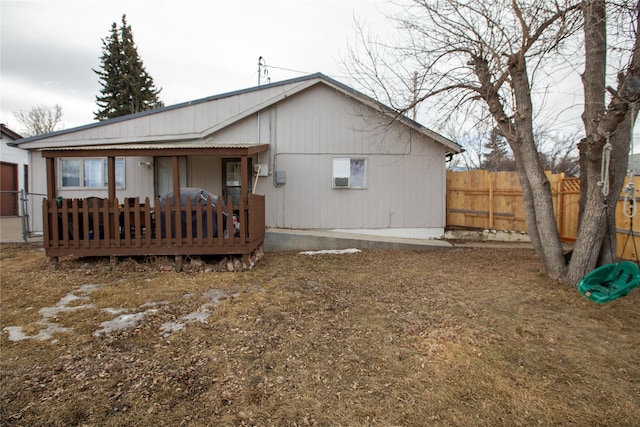
<path fill-rule="evenodd" d="M 388 118 L 393 119 L 393 120 L 397 120 L 401 123 L 403 123 L 404 125 L 420 132 L 421 134 L 425 135 L 426 137 L 442 144 L 443 146 L 445 146 L 447 148 L 447 150 L 451 153 L 459 153 L 462 150 L 462 147 L 458 144 L 456 144 L 455 142 L 443 137 L 442 135 L 427 129 L 426 127 L 422 126 L 420 123 L 409 119 L 408 117 L 399 114 L 397 111 L 391 109 L 390 107 L 374 100 L 373 98 L 364 95 L 361 92 L 358 92 L 357 90 L 342 84 L 330 77 L 325 76 L 324 74 L 321 73 L 316 73 L 316 74 L 311 74 L 308 76 L 304 76 L 304 77 L 299 77 L 299 78 L 295 78 L 295 79 L 290 79 L 290 80 L 284 80 L 281 82 L 276 82 L 276 83 L 271 83 L 271 84 L 267 84 L 267 85 L 262 85 L 262 86 L 256 86 L 253 88 L 248 88 L 248 89 L 243 89 L 243 90 L 239 90 L 239 91 L 234 91 L 234 92 L 228 92 L 228 93 L 224 93 L 224 94 L 220 94 L 220 95 L 215 95 L 215 96 L 211 96 L 211 97 L 207 97 L 207 98 L 202 98 L 202 99 L 198 99 L 198 100 L 194 100 L 194 101 L 188 101 L 188 102 L 184 102 L 184 103 L 180 103 L 180 104 L 175 104 L 175 105 L 170 105 L 170 106 L 166 106 L 166 107 L 162 107 L 162 108 L 157 108 L 157 109 L 153 109 L 153 110 L 147 110 L 147 111 L 142 111 L 140 113 L 136 113 L 136 114 L 130 114 L 127 116 L 122 116 L 122 117 L 117 117 L 115 119 L 109 119 L 109 120 L 104 120 L 104 121 L 100 121 L 100 122 L 95 122 L 95 123 L 91 123 L 88 125 L 84 125 L 84 126 L 80 126 L 80 127 L 76 127 L 76 128 L 71 128 L 71 129 L 64 129 L 64 130 L 60 130 L 60 131 L 56 131 L 56 132 L 52 132 L 49 134 L 45 134 L 45 135 L 37 135 L 37 136 L 32 136 L 32 137 L 28 137 L 28 138 L 24 138 L 22 139 L 19 144 L 24 144 L 24 148 L 27 149 L 31 149 L 31 148 L 45 148 L 45 147 L 51 147 L 51 146 L 47 146 L 46 144 L 46 140 L 50 139 L 50 138 L 55 138 L 55 148 L 56 149 L 60 149 L 62 146 L 64 146 L 64 141 L 61 141 L 61 139 L 59 137 L 64 136 L 64 135 L 68 135 L 68 134 L 72 134 L 72 133 L 76 133 L 76 132 L 82 132 L 85 130 L 89 130 L 89 129 L 93 129 L 93 128 L 98 128 L 101 126 L 109 126 L 109 125 L 113 125 L 116 123 L 121 123 L 124 121 L 128 121 L 128 120 L 135 120 L 138 118 L 142 118 L 142 117 L 146 117 L 146 116 L 151 116 L 153 114 L 160 114 L 160 113 L 164 113 L 164 112 L 168 112 L 168 111 L 172 111 L 172 110 L 177 110 L 177 109 L 181 109 L 181 108 L 188 108 L 191 106 L 195 106 L 195 105 L 199 105 L 199 104 L 203 104 L 203 103 L 208 103 L 208 102 L 214 102 L 214 101 L 218 101 L 218 100 L 222 100 L 224 98 L 229 98 L 229 97 L 233 97 L 233 96 L 238 96 L 238 95 L 243 95 L 243 94 L 248 94 L 251 92 L 256 92 L 256 91 L 261 91 L 261 90 L 268 90 L 268 89 L 273 89 L 273 88 L 278 88 L 278 87 L 284 87 L 284 86 L 290 86 L 289 88 L 287 88 L 286 90 L 282 91 L 282 92 L 278 92 L 277 94 L 275 94 L 274 96 L 262 101 L 262 102 L 258 102 L 255 105 L 249 106 L 248 108 L 243 109 L 241 112 L 237 113 L 231 113 L 229 112 L 228 115 L 226 117 L 218 117 L 216 120 L 214 120 L 213 123 L 211 123 L 210 126 L 201 129 L 201 130 L 197 130 L 197 131 L 180 131 L 178 133 L 167 133 L 166 135 L 138 135 L 134 138 L 128 138 L 128 137 L 122 137 L 120 139 L 107 139 L 105 138 L 103 141 L 99 141 L 99 140 L 92 140 L 91 141 L 91 146 L 97 146 L 97 145 L 105 145 L 105 144 L 109 144 L 109 145 L 114 145 L 114 144 L 145 144 L 145 143 L 167 143 L 167 142 L 172 142 L 172 143 L 179 143 L 181 141 L 194 141 L 194 140 L 204 140 L 205 138 L 207 138 L 208 136 L 214 134 L 215 132 L 224 129 L 246 117 L 249 117 L 253 114 L 258 113 L 259 111 L 262 111 L 266 108 L 269 108 L 270 106 L 283 101 L 284 99 L 286 99 L 289 96 L 292 96 L 294 94 L 297 94 L 299 92 L 302 92 L 312 86 L 315 86 L 317 84 L 324 84 L 327 85 L 329 87 L 332 87 L 333 89 L 337 90 L 338 92 L 351 97 L 352 99 L 355 99 L 356 101 L 365 104 L 371 108 L 373 108 L 374 110 L 377 110 L 381 113 L 383 113 L 384 115 L 386 115 Z M 45 143 L 45 144 L 42 144 Z M 52 141 L 53 143 L 53 141 Z M 69 144 L 69 145 L 74 145 L 75 149 L 87 149 L 87 146 L 84 147 L 80 147 L 78 146 L 78 143 L 76 142 L 75 144 Z"/>

